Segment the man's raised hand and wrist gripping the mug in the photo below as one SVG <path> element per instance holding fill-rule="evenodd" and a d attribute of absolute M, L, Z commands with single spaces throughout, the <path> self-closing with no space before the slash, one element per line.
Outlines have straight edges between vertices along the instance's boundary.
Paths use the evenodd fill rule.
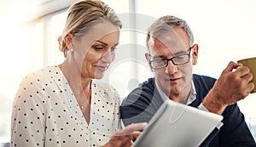
<path fill-rule="evenodd" d="M 231 61 L 207 94 L 203 105 L 213 113 L 222 114 L 226 106 L 247 97 L 254 88 L 252 80 L 249 68 Z"/>

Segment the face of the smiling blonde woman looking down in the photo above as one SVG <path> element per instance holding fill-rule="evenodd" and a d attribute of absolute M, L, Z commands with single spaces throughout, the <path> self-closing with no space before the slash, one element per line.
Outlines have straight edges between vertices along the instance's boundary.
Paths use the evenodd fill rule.
<path fill-rule="evenodd" d="M 82 78 L 101 79 L 115 57 L 119 44 L 119 26 L 109 22 L 98 23 L 83 37 L 73 39 L 74 58 Z"/>

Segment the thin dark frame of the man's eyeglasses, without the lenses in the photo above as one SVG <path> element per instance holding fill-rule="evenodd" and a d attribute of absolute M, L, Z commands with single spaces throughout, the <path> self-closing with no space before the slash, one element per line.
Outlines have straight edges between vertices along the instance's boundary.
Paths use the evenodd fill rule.
<path fill-rule="evenodd" d="M 154 67 L 151 65 L 151 63 L 154 62 L 154 61 L 156 61 L 156 60 L 162 60 L 162 59 L 150 60 L 151 55 L 148 54 L 148 64 L 150 65 L 150 67 L 151 67 L 153 70 L 160 70 L 160 69 L 166 68 L 166 67 L 168 66 L 170 60 L 172 61 L 172 64 L 173 64 L 173 65 L 185 65 L 185 64 L 189 63 L 189 60 L 190 60 L 190 53 L 191 53 L 191 50 L 194 48 L 194 46 L 195 46 L 195 45 L 193 45 L 192 47 L 190 47 L 190 48 L 188 49 L 188 50 L 189 50 L 189 53 L 188 53 L 188 54 L 176 55 L 176 56 L 173 56 L 173 57 L 170 58 L 170 59 L 163 58 L 163 59 L 166 59 L 167 62 L 166 62 L 166 65 L 165 65 L 165 66 L 160 67 L 160 68 L 154 68 Z M 174 63 L 173 59 L 175 59 L 175 58 L 177 58 L 177 57 L 179 57 L 179 56 L 183 56 L 183 55 L 189 56 L 188 61 L 186 61 L 186 62 L 184 62 L 184 63 L 182 63 L 182 64 Z"/>

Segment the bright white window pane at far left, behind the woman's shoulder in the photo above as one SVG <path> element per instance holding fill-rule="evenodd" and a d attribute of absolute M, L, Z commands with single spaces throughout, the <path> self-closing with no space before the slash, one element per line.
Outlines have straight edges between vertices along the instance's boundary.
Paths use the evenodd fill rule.
<path fill-rule="evenodd" d="M 3 54 L 0 62 L 0 143 L 9 142 L 11 106 L 21 79 L 38 69 L 44 61 L 43 23 L 22 28 L 9 26 L 3 31 Z M 2 40 L 2 38 L 1 38 Z"/>

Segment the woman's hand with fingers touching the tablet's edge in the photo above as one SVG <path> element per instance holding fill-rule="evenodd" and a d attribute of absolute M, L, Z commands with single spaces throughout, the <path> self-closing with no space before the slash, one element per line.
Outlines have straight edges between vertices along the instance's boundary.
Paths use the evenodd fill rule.
<path fill-rule="evenodd" d="M 140 131 L 147 126 L 147 123 L 133 123 L 124 129 L 117 130 L 113 137 L 103 147 L 129 147 L 131 140 L 137 139 Z"/>

